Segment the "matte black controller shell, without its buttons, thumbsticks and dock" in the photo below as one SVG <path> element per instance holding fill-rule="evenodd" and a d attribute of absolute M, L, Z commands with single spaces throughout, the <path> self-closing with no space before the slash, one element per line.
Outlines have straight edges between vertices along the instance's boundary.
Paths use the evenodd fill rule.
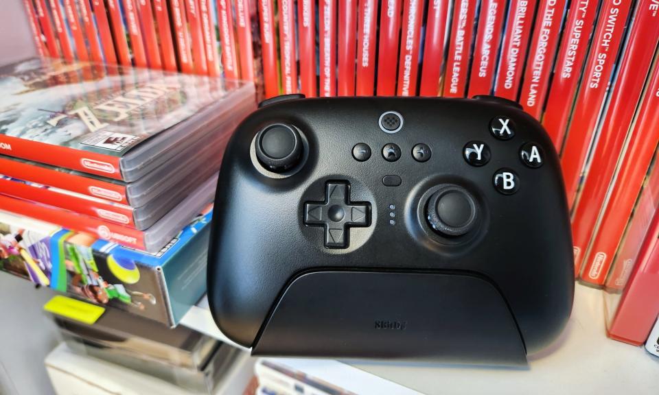
<path fill-rule="evenodd" d="M 303 272 L 427 270 L 469 272 L 487 279 L 507 302 L 527 352 L 551 343 L 568 320 L 574 292 L 570 222 L 559 159 L 533 117 L 502 103 L 421 97 L 290 99 L 249 116 L 224 156 L 213 213 L 209 303 L 222 332 L 239 344 L 260 349 L 257 335 L 288 283 Z M 378 120 L 387 111 L 402 115 L 400 131 L 385 133 L 380 128 Z M 511 119 L 512 138 L 494 136 L 490 124 L 495 117 Z M 252 154 L 255 134 L 273 123 L 294 125 L 305 136 L 307 156 L 286 173 L 262 171 Z M 480 167 L 463 158 L 470 141 L 483 141 L 489 147 L 491 157 Z M 527 142 L 542 148 L 541 167 L 522 163 L 520 147 Z M 368 160 L 353 157 L 358 143 L 373 149 Z M 432 151 L 426 162 L 413 157 L 413 147 L 419 143 Z M 389 162 L 380 154 L 387 144 L 400 147 L 398 160 Z M 495 189 L 499 169 L 516 173 L 515 193 L 504 195 Z M 384 176 L 391 175 L 400 176 L 400 186 L 384 185 Z M 305 202 L 322 202 L 328 182 L 346 182 L 351 201 L 367 202 L 371 208 L 369 226 L 349 228 L 347 248 L 327 248 L 325 229 L 303 222 Z M 442 237 L 428 226 L 425 205 L 442 184 L 459 185 L 476 200 L 478 217 L 465 235 Z M 346 291 L 335 290 L 339 306 L 347 303 L 340 298 Z M 331 303 L 331 294 L 327 298 Z M 418 308 L 430 314 L 436 306 L 434 300 L 427 300 Z M 472 325 L 482 320 L 474 315 Z M 308 325 L 303 314 L 299 322 L 290 323 L 291 329 L 298 325 Z M 435 331 L 428 326 L 428 336 Z M 331 331 L 325 335 L 334 336 Z M 342 334 L 345 342 L 351 342 L 350 336 Z M 465 341 L 460 333 L 454 336 Z M 408 346 L 422 344 L 419 339 L 417 346 Z M 305 346 L 308 355 L 323 348 L 323 344 Z M 363 347 L 372 349 L 368 343 Z M 410 350 L 409 355 L 415 352 L 419 350 Z"/>

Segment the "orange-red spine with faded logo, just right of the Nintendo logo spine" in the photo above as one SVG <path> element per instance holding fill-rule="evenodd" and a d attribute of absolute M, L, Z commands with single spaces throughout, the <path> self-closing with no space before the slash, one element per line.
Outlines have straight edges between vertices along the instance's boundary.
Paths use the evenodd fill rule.
<path fill-rule="evenodd" d="M 659 154 L 655 152 L 654 163 L 658 159 Z M 643 180 L 643 190 L 634 204 L 632 216 L 625 224 L 623 239 L 606 278 L 605 289 L 608 291 L 619 293 L 625 288 L 639 254 L 647 252 L 647 244 L 654 242 L 659 232 L 659 171 L 656 170 L 656 166 L 651 165 Z"/>

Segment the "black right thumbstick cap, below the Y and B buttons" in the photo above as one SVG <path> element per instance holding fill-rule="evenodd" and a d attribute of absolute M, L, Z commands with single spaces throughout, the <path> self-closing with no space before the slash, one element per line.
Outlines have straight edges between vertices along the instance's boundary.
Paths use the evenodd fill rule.
<path fill-rule="evenodd" d="M 447 184 L 428 200 L 428 224 L 444 236 L 461 236 L 476 223 L 476 201 L 464 188 Z"/>

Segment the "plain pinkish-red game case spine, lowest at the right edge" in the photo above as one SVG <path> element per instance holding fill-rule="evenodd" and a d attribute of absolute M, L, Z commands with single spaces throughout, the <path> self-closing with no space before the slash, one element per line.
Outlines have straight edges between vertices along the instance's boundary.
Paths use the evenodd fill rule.
<path fill-rule="evenodd" d="M 612 339 L 640 346 L 659 314 L 659 215 L 655 215 L 643 249 L 607 327 Z"/>

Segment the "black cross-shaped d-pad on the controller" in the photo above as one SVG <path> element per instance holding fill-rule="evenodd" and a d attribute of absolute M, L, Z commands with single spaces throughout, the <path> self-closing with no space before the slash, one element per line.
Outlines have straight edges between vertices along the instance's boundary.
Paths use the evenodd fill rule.
<path fill-rule="evenodd" d="M 371 224 L 371 204 L 350 202 L 350 184 L 330 181 L 325 202 L 305 202 L 304 224 L 325 228 L 326 248 L 347 248 L 349 228 Z"/>

